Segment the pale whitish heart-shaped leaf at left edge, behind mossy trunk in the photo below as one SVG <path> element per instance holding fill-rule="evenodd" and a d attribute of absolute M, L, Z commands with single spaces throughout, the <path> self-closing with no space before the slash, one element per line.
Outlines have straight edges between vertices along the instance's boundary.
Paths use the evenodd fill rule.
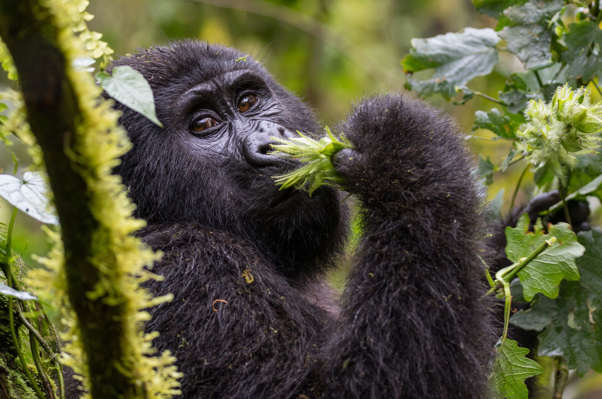
<path fill-rule="evenodd" d="M 23 180 L 11 175 L 0 175 L 2 198 L 42 223 L 58 224 L 46 192 L 46 181 L 39 172 L 25 172 Z"/>

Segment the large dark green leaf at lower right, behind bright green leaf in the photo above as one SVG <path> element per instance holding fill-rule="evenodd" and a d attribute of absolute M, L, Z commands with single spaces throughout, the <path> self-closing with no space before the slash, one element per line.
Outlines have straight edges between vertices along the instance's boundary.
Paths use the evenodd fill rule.
<path fill-rule="evenodd" d="M 581 232 L 579 243 L 586 248 L 577 259 L 581 280 L 563 281 L 557 299 L 539 296 L 510 321 L 523 329 L 545 328 L 538 355 L 564 356 L 568 368 L 583 376 L 589 368 L 602 372 L 602 232 Z"/>

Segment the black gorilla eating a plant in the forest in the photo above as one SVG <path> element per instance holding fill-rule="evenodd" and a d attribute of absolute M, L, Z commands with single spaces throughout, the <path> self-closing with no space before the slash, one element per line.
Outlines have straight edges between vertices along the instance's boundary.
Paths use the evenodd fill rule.
<path fill-rule="evenodd" d="M 253 59 L 195 41 L 113 63 L 150 82 L 164 129 L 120 104 L 133 148 L 117 172 L 164 256 L 149 288 L 158 349 L 184 398 L 483 398 L 495 342 L 479 258 L 482 201 L 448 117 L 401 95 L 359 103 L 334 131 L 361 204 L 346 290 L 322 283 L 347 242 L 340 192 L 279 191 L 294 163 L 270 136 L 320 132 Z"/>

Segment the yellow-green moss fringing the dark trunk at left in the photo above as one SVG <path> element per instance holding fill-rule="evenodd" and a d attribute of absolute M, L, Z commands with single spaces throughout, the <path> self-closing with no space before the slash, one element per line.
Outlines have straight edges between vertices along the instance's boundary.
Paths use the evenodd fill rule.
<path fill-rule="evenodd" d="M 85 21 L 92 18 L 85 13 L 86 0 L 45 0 L 52 23 L 58 29 L 57 45 L 66 58 L 66 64 L 81 56 L 93 58 L 107 56 L 112 50 L 100 39 L 101 35 L 91 32 Z M 170 296 L 154 298 L 140 284 L 147 279 L 157 278 L 145 267 L 150 267 L 159 258 L 151 249 L 132 236 L 144 222 L 132 218 L 134 205 L 125 194 L 120 177 L 111 174 L 119 163 L 119 157 L 130 147 L 125 131 L 117 126 L 119 114 L 111 108 L 112 102 L 98 100 L 101 92 L 93 77 L 67 67 L 67 76 L 75 90 L 81 120 L 73 133 L 69 150 L 78 173 L 87 186 L 90 212 L 99 222 L 92 233 L 92 248 L 89 261 L 98 270 L 99 281 L 90 299 L 103 300 L 108 305 L 119 305 L 123 323 L 123 350 L 119 365 L 126 365 L 123 374 L 139 386 L 144 397 L 170 398 L 179 394 L 177 379 L 181 376 L 173 365 L 175 358 L 169 352 L 156 353 L 152 340 L 156 333 L 146 334 L 143 323 L 149 318 L 144 309 L 169 300 Z M 23 116 L 22 111 L 20 115 Z M 11 119 L 16 122 L 16 119 Z M 23 129 L 27 130 L 28 129 Z M 31 138 L 31 136 L 26 135 Z M 33 142 L 29 142 L 33 145 Z M 37 159 L 41 163 L 41 158 Z M 54 246 L 48 257 L 40 258 L 46 270 L 34 270 L 29 283 L 39 287 L 40 296 L 52 302 L 61 311 L 61 338 L 66 341 L 61 362 L 72 367 L 82 376 L 84 389 L 88 368 L 85 353 L 79 340 L 79 327 L 75 312 L 70 308 L 66 294 L 66 275 L 60 233 L 47 229 Z M 88 395 L 84 395 L 86 397 Z"/>

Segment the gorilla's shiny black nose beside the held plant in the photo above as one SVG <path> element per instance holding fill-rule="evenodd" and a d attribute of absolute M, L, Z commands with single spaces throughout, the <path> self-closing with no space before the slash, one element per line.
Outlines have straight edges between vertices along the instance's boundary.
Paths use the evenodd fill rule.
<path fill-rule="evenodd" d="M 249 165 L 261 168 L 281 162 L 281 157 L 268 154 L 272 151 L 270 144 L 275 144 L 275 141 L 270 139 L 272 136 L 288 138 L 293 135 L 278 124 L 261 121 L 255 132 L 250 133 L 243 142 L 243 156 Z"/>

